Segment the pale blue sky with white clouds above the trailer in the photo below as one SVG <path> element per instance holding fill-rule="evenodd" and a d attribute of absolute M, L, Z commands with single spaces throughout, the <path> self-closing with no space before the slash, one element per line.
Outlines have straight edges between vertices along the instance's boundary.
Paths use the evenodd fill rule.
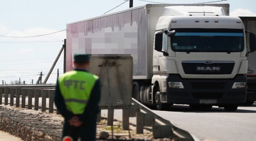
<path fill-rule="evenodd" d="M 133 6 L 152 2 L 201 3 L 215 0 L 133 0 Z M 66 29 L 66 24 L 104 14 L 125 0 L 2 0 L 0 5 L 0 35 L 34 36 Z M 232 16 L 256 16 L 255 0 L 227 0 Z M 109 13 L 129 8 L 129 2 Z M 66 31 L 32 38 L 0 37 L 0 85 L 21 78 L 36 83 L 40 72 L 48 74 L 62 48 Z M 63 54 L 47 83 L 55 83 L 57 69 L 63 74 Z"/>

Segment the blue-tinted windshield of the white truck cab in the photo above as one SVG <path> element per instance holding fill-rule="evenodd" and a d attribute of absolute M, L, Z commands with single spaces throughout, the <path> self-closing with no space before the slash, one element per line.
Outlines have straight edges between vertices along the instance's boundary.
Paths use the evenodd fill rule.
<path fill-rule="evenodd" d="M 243 32 L 176 32 L 171 46 L 178 52 L 241 52 Z"/>

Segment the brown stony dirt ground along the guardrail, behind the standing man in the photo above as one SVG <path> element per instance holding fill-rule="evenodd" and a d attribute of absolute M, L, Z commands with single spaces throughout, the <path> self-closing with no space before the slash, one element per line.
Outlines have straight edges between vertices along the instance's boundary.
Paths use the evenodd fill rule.
<path fill-rule="evenodd" d="M 40 109 L 39 109 L 40 110 Z M 100 131 L 107 131 L 112 139 L 112 130 L 107 126 L 107 118 L 101 118 L 97 123 L 97 135 Z M 0 106 L 0 130 L 7 131 L 23 140 L 60 140 L 62 133 L 63 117 L 56 113 Z M 140 140 L 140 141 L 169 141 L 170 139 L 153 139 L 152 128 L 145 127 L 144 134 L 136 134 L 136 125 L 130 124 L 129 131 L 122 130 L 122 122 L 115 120 L 113 123 L 113 139 Z"/>

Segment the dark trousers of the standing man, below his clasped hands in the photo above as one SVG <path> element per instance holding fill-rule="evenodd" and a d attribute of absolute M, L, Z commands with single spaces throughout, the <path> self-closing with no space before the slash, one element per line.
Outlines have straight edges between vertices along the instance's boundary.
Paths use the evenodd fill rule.
<path fill-rule="evenodd" d="M 81 141 L 95 141 L 97 116 L 94 115 L 90 119 L 91 121 L 84 122 L 83 125 L 81 125 L 81 127 L 78 128 L 71 127 L 68 121 L 65 119 L 62 138 L 64 136 L 71 136 L 73 138 L 73 141 L 77 141 L 78 138 L 81 138 Z"/>

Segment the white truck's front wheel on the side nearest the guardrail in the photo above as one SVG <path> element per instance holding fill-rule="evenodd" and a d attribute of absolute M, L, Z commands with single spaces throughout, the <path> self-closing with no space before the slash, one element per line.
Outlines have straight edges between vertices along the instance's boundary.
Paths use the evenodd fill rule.
<path fill-rule="evenodd" d="M 156 104 L 156 109 L 159 111 L 169 110 L 170 104 L 169 103 L 161 103 L 160 101 L 160 88 L 159 84 L 156 83 L 154 87 L 154 102 Z"/>

